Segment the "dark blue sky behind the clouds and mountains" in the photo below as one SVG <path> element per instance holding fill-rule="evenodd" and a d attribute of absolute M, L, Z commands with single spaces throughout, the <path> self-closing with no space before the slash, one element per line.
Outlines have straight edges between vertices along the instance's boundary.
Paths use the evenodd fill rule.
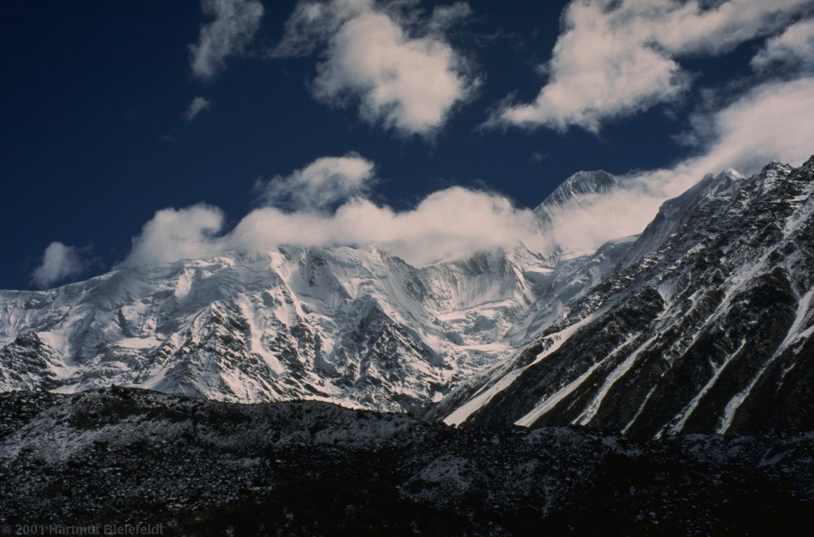
<path fill-rule="evenodd" d="M 0 4 L 0 288 L 30 288 L 52 241 L 90 246 L 97 262 L 85 275 L 107 271 L 157 209 L 205 202 L 234 223 L 251 209 L 257 178 L 320 156 L 355 151 L 374 161 L 382 178 L 374 199 L 396 209 L 451 184 L 531 207 L 580 169 L 668 165 L 689 152 L 672 136 L 687 128 L 699 88 L 745 71 L 760 45 L 688 59 L 697 77 L 683 99 L 612 121 L 598 136 L 578 127 L 484 130 L 506 95 L 526 102 L 540 90 L 534 67 L 549 59 L 567 2 L 473 0 L 473 16 L 450 42 L 475 59 L 484 81 L 428 142 L 312 99 L 314 56 L 263 57 L 295 2 L 263 3 L 247 54 L 228 59 L 212 81 L 190 71 L 188 46 L 206 21 L 199 2 Z M 186 121 L 196 96 L 212 107 Z"/>

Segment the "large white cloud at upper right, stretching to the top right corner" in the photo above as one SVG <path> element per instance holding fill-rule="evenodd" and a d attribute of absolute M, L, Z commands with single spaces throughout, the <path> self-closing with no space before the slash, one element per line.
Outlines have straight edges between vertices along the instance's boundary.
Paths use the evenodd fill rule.
<path fill-rule="evenodd" d="M 491 122 L 597 132 L 604 121 L 683 94 L 691 75 L 678 59 L 723 54 L 811 10 L 811 0 L 574 0 L 540 66 L 548 81 L 539 95 L 506 103 Z"/>

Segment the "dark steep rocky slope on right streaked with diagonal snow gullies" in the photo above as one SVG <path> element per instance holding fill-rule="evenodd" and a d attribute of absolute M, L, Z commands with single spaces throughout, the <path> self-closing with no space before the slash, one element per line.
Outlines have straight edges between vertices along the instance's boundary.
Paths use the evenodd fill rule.
<path fill-rule="evenodd" d="M 812 190 L 814 159 L 667 201 L 610 278 L 444 417 L 641 437 L 814 429 Z"/>

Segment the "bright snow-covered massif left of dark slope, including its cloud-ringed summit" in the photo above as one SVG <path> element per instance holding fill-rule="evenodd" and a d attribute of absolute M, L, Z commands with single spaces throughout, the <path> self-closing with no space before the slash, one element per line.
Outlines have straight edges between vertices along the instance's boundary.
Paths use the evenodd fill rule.
<path fill-rule="evenodd" d="M 594 177 L 610 180 L 577 174 L 544 205 L 579 203 Z M 375 247 L 291 247 L 0 291 L 0 390 L 117 384 L 413 410 L 529 344 L 631 244 L 567 260 L 484 252 L 420 269 Z"/>

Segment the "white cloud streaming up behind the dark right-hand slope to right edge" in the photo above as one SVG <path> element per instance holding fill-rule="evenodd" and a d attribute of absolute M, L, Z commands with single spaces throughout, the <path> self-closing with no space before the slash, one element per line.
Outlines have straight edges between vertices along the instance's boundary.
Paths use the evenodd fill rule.
<path fill-rule="evenodd" d="M 735 168 L 751 175 L 770 161 L 801 165 L 814 152 L 814 77 L 773 81 L 728 106 L 695 118 L 698 156 L 667 169 L 628 174 L 625 187 L 588 196 L 584 206 L 553 218 L 556 243 L 589 253 L 606 240 L 640 233 L 664 200 L 680 195 L 706 174 Z"/>

